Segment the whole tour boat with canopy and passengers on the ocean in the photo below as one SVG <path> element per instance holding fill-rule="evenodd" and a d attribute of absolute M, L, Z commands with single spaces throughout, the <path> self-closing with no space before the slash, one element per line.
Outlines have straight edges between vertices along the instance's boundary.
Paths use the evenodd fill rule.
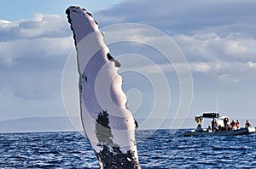
<path fill-rule="evenodd" d="M 207 128 L 203 128 L 202 122 L 204 119 L 212 119 L 212 125 Z M 195 121 L 197 124 L 195 130 L 183 132 L 184 136 L 234 136 L 255 132 L 255 128 L 249 123 L 249 121 L 246 121 L 246 127 L 240 127 L 239 121 L 230 122 L 227 116 L 221 116 L 216 112 L 207 112 L 202 115 L 196 115 Z"/>

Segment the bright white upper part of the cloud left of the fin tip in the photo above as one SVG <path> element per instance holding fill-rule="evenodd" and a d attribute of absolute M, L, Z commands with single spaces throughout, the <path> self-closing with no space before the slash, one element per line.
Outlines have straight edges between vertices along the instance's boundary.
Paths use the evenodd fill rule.
<path fill-rule="evenodd" d="M 31 20 L 0 22 L 0 42 L 40 37 L 71 35 L 67 20 L 55 14 L 35 14 Z"/>

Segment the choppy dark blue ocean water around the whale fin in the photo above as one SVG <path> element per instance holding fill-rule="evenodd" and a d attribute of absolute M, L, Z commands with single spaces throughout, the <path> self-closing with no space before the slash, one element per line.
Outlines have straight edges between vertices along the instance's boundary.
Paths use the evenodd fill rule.
<path fill-rule="evenodd" d="M 137 131 L 142 168 L 256 168 L 255 133 L 185 138 L 182 132 Z M 0 134 L 0 168 L 98 167 L 79 132 Z"/>

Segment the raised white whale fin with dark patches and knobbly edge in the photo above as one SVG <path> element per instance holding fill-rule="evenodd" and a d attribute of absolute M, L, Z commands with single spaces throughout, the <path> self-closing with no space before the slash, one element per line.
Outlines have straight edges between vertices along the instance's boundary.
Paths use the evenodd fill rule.
<path fill-rule="evenodd" d="M 140 168 L 135 141 L 138 124 L 130 110 L 125 109 L 126 96 L 117 69 L 121 64 L 109 54 L 92 14 L 75 6 L 67 8 L 66 14 L 77 50 L 82 123 L 100 167 Z M 109 61 L 113 64 L 107 64 Z M 98 76 L 100 70 L 106 76 Z M 109 88 L 108 82 L 112 82 Z M 110 98 L 105 97 L 109 93 Z M 108 99 L 113 104 L 108 104 Z"/>

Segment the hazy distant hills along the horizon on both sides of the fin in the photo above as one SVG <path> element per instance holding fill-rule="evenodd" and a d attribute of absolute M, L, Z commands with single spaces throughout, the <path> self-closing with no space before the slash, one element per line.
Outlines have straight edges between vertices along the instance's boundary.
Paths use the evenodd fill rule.
<path fill-rule="evenodd" d="M 71 122 L 72 121 L 72 122 Z M 241 127 L 244 127 L 245 119 L 240 120 Z M 188 118 L 185 121 L 183 119 L 177 120 L 176 124 L 173 124 L 172 119 L 166 119 L 162 121 L 160 119 L 137 119 L 139 123 L 139 130 L 145 129 L 179 129 L 179 128 L 194 128 L 194 118 Z M 255 126 L 256 120 L 250 120 Z M 204 127 L 210 125 L 211 120 L 205 121 Z M 76 128 L 73 127 L 75 124 Z M 180 127 L 182 124 L 182 127 Z M 10 121 L 0 121 L 0 133 L 6 132 L 76 132 L 83 131 L 83 127 L 79 117 L 72 117 L 69 119 L 65 116 L 59 117 L 31 117 L 22 118 Z"/>

